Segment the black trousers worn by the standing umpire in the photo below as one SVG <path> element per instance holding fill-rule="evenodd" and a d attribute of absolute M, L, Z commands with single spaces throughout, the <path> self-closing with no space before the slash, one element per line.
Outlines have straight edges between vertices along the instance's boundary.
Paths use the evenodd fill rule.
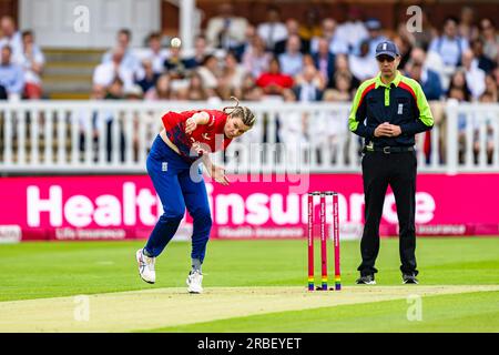
<path fill-rule="evenodd" d="M 375 267 L 379 252 L 379 222 L 388 184 L 395 195 L 399 223 L 400 271 L 418 274 L 416 270 L 416 171 L 415 152 L 389 153 L 366 152 L 363 156 L 363 181 L 365 194 L 365 225 L 360 241 L 360 275 L 377 273 Z"/>

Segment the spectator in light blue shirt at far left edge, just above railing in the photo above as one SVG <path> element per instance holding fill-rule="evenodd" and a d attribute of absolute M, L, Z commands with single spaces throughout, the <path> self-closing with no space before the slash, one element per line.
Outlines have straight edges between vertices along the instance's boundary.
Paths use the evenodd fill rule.
<path fill-rule="evenodd" d="M 3 45 L 0 51 L 0 85 L 6 89 L 9 100 L 20 100 L 24 90 L 22 67 L 12 61 L 10 45 Z"/>

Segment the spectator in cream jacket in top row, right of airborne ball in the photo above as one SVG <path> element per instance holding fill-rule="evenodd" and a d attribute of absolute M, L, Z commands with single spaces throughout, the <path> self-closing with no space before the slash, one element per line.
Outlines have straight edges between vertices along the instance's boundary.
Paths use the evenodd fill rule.
<path fill-rule="evenodd" d="M 247 20 L 234 14 L 231 3 L 221 3 L 218 14 L 208 20 L 206 39 L 211 47 L 233 50 L 244 42 Z"/>

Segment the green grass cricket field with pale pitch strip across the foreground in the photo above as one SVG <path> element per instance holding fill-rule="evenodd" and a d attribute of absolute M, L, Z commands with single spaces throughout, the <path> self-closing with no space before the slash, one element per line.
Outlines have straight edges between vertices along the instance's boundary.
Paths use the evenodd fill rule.
<path fill-rule="evenodd" d="M 419 239 L 416 254 L 420 285 L 404 288 L 400 288 L 397 239 L 381 241 L 376 287 L 354 285 L 359 242 L 342 242 L 345 290 L 313 295 L 305 290 L 307 260 L 304 240 L 211 241 L 203 265 L 206 293 L 202 295 L 185 293 L 190 243 L 173 242 L 167 246 L 157 260 L 154 285 L 143 283 L 138 275 L 134 253 L 142 245 L 143 242 L 0 245 L 0 311 L 3 310 L 0 312 L 0 331 L 499 332 L 498 237 Z M 317 245 L 316 258 L 318 252 Z M 332 255 L 330 247 L 330 274 Z M 316 274 L 319 273 L 318 262 L 316 260 Z M 477 288 L 477 285 L 487 287 Z M 233 287 L 241 287 L 241 293 L 232 292 L 238 290 Z M 134 292 L 126 293 L 130 291 Z M 99 328 L 96 324 L 92 327 L 92 322 L 88 322 L 85 327 L 81 322 L 64 321 L 64 317 L 73 316 L 75 295 L 95 295 L 91 296 L 91 302 L 95 300 L 91 317 L 99 320 L 108 312 L 108 327 Z M 408 296 L 414 295 L 421 296 L 421 316 L 409 321 L 407 314 L 411 304 Z M 99 302 L 105 297 L 113 297 L 115 302 L 108 302 L 103 314 L 98 314 Z M 129 297 L 132 301 L 126 308 Z M 231 300 L 234 301 L 233 313 L 228 312 L 231 307 L 216 304 L 231 304 Z M 286 302 L 289 302 L 288 307 Z M 155 310 L 147 308 L 151 303 Z M 55 311 L 49 312 L 55 304 L 61 305 L 53 308 L 62 310 L 59 315 L 53 315 Z M 115 323 L 123 325 L 128 322 L 119 307 L 132 313 L 140 312 L 143 306 L 143 312 L 154 314 L 167 307 L 174 310 L 175 304 L 186 307 L 183 310 L 185 317 L 179 324 L 167 315 L 163 323 L 155 320 L 151 324 L 122 328 L 112 323 L 114 313 L 121 317 Z M 212 306 L 221 306 L 227 313 Z M 246 306 L 247 312 L 242 312 Z M 9 310 L 24 311 L 18 311 L 18 316 L 12 320 L 4 313 Z M 194 312 L 204 310 L 206 314 L 213 311 L 213 315 L 196 317 Z M 58 327 L 53 321 L 59 320 L 58 316 L 61 324 L 65 322 L 64 326 Z M 52 322 L 50 327 L 44 327 L 47 320 Z"/>

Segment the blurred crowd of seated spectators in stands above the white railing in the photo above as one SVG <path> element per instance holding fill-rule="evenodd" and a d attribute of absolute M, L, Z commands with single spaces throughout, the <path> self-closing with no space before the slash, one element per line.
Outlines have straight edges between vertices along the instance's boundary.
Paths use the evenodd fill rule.
<path fill-rule="evenodd" d="M 493 18 L 477 18 L 471 7 L 440 27 L 424 11 L 418 32 L 405 23 L 395 31 L 384 29 L 358 8 L 342 23 L 314 8 L 305 18 L 283 19 L 269 6 L 266 20 L 253 24 L 223 3 L 191 52 L 169 45 L 159 32 L 147 37 L 145 48 L 132 49 L 132 33 L 122 29 L 94 69 L 93 92 L 113 100 L 216 102 L 235 95 L 245 101 L 347 102 L 364 80 L 377 74 L 375 48 L 388 38 L 401 52 L 400 72 L 420 82 L 429 101 L 498 102 L 498 29 Z M 16 31 L 9 18 L 1 20 L 1 30 L 0 88 L 8 95 L 39 98 L 44 59 L 33 33 Z M 437 123 L 440 111 L 435 110 Z"/>

